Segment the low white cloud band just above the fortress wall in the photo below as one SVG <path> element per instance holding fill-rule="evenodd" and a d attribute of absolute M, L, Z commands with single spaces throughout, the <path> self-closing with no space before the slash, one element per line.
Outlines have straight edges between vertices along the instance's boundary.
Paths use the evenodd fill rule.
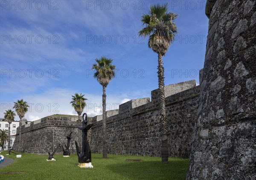
<path fill-rule="evenodd" d="M 25 114 L 25 118 L 28 121 L 35 121 L 53 114 L 77 115 L 76 111 L 70 104 L 72 99 L 71 96 L 75 93 L 75 90 L 53 88 L 43 93 L 25 95 L 23 96 L 23 100 L 25 100 L 29 105 L 29 110 Z M 91 117 L 102 114 L 102 96 L 89 93 L 82 94 L 84 94 L 84 97 L 88 99 L 86 101 L 87 106 L 84 108 L 83 113 L 87 113 L 88 116 Z M 106 110 L 118 109 L 120 104 L 129 100 L 130 99 L 124 98 L 122 95 L 108 95 Z M 9 103 L 12 107 L 13 102 L 8 102 L 8 104 Z M 8 108 L 2 109 L 2 111 L 7 110 Z M 15 116 L 15 120 L 19 120 L 19 117 Z"/>

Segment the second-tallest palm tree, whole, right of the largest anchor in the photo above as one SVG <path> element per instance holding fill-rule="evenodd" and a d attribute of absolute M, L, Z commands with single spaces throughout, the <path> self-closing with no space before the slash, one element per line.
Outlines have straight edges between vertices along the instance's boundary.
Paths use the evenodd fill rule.
<path fill-rule="evenodd" d="M 102 85 L 102 148 L 103 158 L 107 158 L 107 131 L 106 131 L 106 87 L 115 75 L 116 66 L 112 65 L 112 59 L 102 56 L 100 59 L 96 58 L 97 64 L 93 64 L 92 69 L 96 70 L 93 77 L 97 79 Z"/>

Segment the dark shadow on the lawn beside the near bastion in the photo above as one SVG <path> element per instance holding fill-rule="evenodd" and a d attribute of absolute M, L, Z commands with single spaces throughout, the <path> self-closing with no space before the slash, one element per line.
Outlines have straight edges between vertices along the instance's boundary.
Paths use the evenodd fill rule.
<path fill-rule="evenodd" d="M 113 179 L 185 180 L 188 160 L 172 160 L 169 164 L 159 161 L 127 162 L 108 165 L 115 174 Z"/>

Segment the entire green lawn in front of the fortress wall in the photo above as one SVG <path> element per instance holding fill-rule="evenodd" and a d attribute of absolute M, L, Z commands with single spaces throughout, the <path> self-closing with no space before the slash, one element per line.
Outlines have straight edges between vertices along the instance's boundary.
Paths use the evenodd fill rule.
<path fill-rule="evenodd" d="M 2 151 L 1 154 L 7 154 Z M 55 154 L 56 161 L 47 161 L 48 155 L 15 154 L 6 155 L 14 163 L 0 168 L 0 180 L 185 180 L 188 159 L 169 158 L 169 164 L 162 164 L 160 157 L 123 156 L 92 154 L 93 168 L 79 168 L 78 157 L 62 157 Z M 125 161 L 140 158 L 142 162 Z M 5 174 L 13 172 L 12 174 Z M 22 172 L 22 173 L 20 173 Z"/>

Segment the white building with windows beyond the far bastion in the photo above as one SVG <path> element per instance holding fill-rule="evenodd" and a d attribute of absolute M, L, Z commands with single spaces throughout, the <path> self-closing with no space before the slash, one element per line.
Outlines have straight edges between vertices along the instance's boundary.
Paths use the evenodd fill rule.
<path fill-rule="evenodd" d="M 19 121 L 13 121 L 11 124 L 11 127 L 10 127 L 10 131 L 11 131 L 10 132 L 10 136 L 11 136 L 10 146 L 11 146 L 11 148 L 14 143 L 16 133 L 18 133 L 17 127 L 19 127 Z M 0 129 L 1 130 L 9 130 L 9 123 L 5 119 L 0 119 Z M 7 149 L 8 149 L 8 141 L 5 142 L 3 150 L 7 150 Z M 2 150 L 1 147 L 0 147 L 0 150 Z"/>

